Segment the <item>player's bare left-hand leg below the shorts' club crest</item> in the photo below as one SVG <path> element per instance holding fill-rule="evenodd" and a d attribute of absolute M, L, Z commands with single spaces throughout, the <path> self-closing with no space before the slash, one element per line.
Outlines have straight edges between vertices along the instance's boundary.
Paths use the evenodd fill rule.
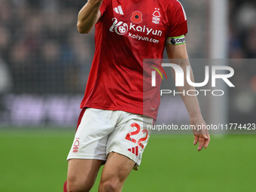
<path fill-rule="evenodd" d="M 90 191 L 104 160 L 69 160 L 68 191 Z"/>

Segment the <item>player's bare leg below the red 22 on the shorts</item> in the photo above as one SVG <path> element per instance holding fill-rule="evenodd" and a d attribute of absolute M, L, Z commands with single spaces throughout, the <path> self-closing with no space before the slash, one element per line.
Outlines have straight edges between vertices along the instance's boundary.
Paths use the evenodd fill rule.
<path fill-rule="evenodd" d="M 122 154 L 111 152 L 102 170 L 99 192 L 119 192 L 126 178 L 135 166 L 135 162 Z"/>

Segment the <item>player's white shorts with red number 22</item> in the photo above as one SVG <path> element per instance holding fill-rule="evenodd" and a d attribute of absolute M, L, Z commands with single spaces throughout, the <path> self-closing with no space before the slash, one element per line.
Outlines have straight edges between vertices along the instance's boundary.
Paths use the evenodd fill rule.
<path fill-rule="evenodd" d="M 153 118 L 125 111 L 87 108 L 67 160 L 106 160 L 108 153 L 123 154 L 139 166 L 148 144 Z"/>

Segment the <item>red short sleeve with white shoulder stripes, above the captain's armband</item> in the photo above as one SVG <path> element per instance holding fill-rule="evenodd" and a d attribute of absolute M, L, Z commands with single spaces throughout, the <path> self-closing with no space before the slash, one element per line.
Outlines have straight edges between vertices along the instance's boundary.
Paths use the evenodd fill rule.
<path fill-rule="evenodd" d="M 169 8 L 169 32 L 168 37 L 178 37 L 187 34 L 187 15 L 183 6 L 177 0 L 173 1 Z"/>

